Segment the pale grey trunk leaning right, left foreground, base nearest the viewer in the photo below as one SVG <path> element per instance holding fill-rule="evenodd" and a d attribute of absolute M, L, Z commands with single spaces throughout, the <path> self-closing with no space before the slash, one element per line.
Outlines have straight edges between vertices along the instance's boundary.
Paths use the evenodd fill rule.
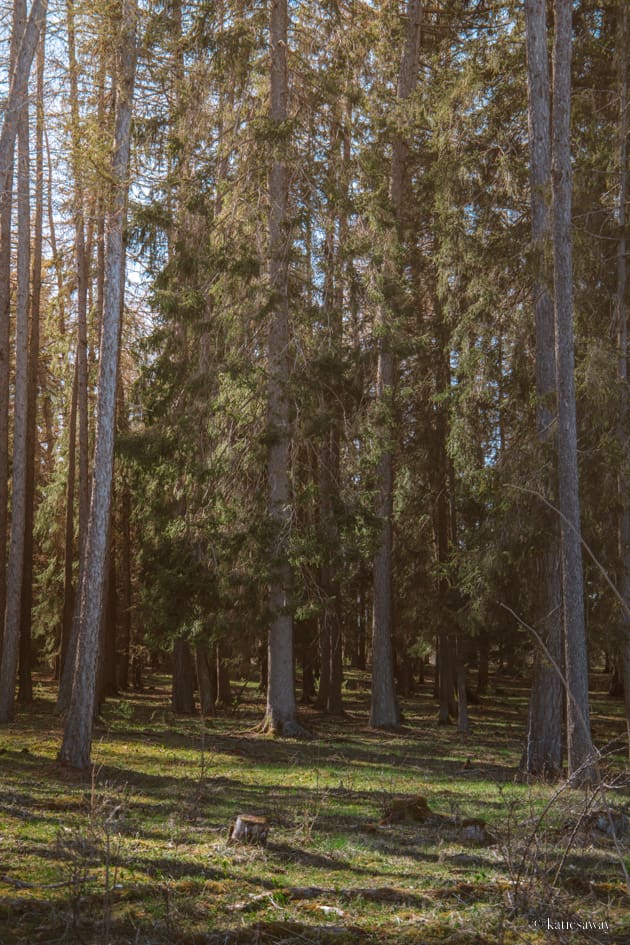
<path fill-rule="evenodd" d="M 98 645 L 107 566 L 107 533 L 114 471 L 120 319 L 125 271 L 123 230 L 137 55 L 136 21 L 135 0 L 122 0 L 122 17 L 116 50 L 118 81 L 111 169 L 112 194 L 106 233 L 105 297 L 100 345 L 94 483 L 81 584 L 81 629 L 77 644 L 72 699 L 60 751 L 60 760 L 76 768 L 86 768 L 90 764 Z"/>

